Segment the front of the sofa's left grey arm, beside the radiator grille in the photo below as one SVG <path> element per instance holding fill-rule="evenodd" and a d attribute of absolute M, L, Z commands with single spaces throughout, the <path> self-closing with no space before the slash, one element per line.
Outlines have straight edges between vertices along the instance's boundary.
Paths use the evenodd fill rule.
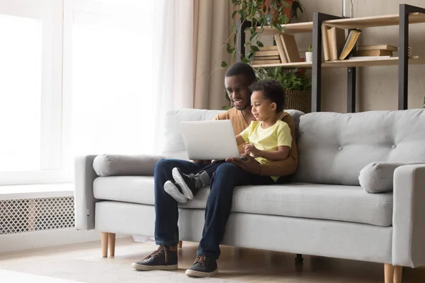
<path fill-rule="evenodd" d="M 74 214 L 77 230 L 94 229 L 94 212 L 98 200 L 93 195 L 93 181 L 98 177 L 93 169 L 96 155 L 79 156 L 75 160 Z"/>

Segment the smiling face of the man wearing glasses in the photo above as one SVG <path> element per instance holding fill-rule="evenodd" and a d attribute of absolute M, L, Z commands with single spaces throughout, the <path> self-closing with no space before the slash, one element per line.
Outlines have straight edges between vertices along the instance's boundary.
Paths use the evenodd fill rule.
<path fill-rule="evenodd" d="M 248 84 L 245 81 L 245 76 L 243 74 L 237 76 L 226 76 L 225 77 L 225 87 L 227 94 L 229 95 L 230 100 L 234 107 L 237 110 L 245 110 L 249 108 L 250 100 Z"/>

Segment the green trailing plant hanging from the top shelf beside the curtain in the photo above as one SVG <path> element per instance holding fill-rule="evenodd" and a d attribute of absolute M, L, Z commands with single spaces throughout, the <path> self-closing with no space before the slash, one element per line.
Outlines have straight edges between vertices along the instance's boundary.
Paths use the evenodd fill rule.
<path fill-rule="evenodd" d="M 285 15 L 285 8 L 291 7 L 290 15 Z M 232 13 L 232 19 L 239 17 L 241 26 L 244 26 L 245 21 L 250 21 L 251 26 L 241 30 L 238 28 L 239 25 L 232 25 L 232 35 L 229 40 L 225 42 L 226 50 L 231 54 L 231 62 L 234 61 L 237 52 L 240 54 L 240 50 L 237 50 L 237 39 L 240 33 L 250 32 L 249 42 L 244 43 L 248 53 L 242 54 L 242 62 L 252 62 L 254 59 L 255 52 L 259 51 L 259 47 L 263 47 L 261 42 L 261 33 L 263 32 L 266 25 L 271 28 L 276 28 L 280 33 L 284 33 L 283 24 L 289 23 L 290 17 L 297 18 L 298 11 L 304 12 L 304 7 L 299 0 L 232 0 L 234 5 L 234 12 Z M 258 29 L 257 29 L 258 28 Z M 230 43 L 232 42 L 232 44 Z M 227 67 L 229 64 L 222 61 L 221 66 Z"/>

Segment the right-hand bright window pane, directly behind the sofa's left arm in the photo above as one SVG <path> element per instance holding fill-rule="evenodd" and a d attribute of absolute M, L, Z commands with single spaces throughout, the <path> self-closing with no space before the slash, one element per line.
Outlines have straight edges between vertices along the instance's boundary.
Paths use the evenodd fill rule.
<path fill-rule="evenodd" d="M 73 155 L 152 152 L 152 3 L 74 2 Z"/>

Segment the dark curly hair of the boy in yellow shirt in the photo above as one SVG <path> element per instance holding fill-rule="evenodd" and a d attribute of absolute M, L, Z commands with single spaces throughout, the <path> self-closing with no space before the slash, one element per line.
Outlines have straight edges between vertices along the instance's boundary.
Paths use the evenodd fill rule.
<path fill-rule="evenodd" d="M 285 90 L 279 81 L 266 79 L 256 81 L 249 86 L 249 91 L 263 91 L 265 96 L 271 102 L 276 103 L 276 112 L 281 112 L 285 108 Z"/>

